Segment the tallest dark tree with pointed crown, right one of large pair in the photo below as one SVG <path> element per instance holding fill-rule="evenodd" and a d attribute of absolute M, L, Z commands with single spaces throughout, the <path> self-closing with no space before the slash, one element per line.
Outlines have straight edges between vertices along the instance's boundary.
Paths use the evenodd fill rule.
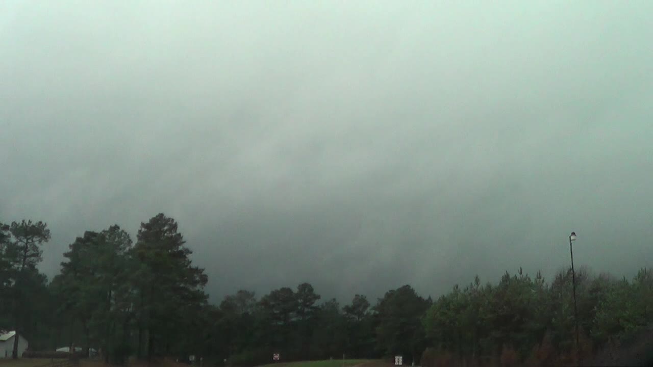
<path fill-rule="evenodd" d="M 136 260 L 138 352 L 142 357 L 176 350 L 178 330 L 193 328 L 206 303 L 206 275 L 193 266 L 174 219 L 158 214 L 141 223 L 130 255 Z"/>

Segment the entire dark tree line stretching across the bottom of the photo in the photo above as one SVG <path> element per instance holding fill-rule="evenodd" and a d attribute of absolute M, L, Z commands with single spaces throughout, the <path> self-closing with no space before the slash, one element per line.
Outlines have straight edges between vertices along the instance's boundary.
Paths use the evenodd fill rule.
<path fill-rule="evenodd" d="M 204 270 L 164 214 L 141 223 L 135 241 L 118 225 L 84 232 L 51 280 L 37 268 L 49 240 L 41 221 L 0 223 L 0 329 L 17 330 L 32 350 L 97 349 L 112 364 L 196 355 L 205 365 L 251 366 L 272 353 L 283 360 L 403 355 L 422 366 L 574 364 L 632 342 L 653 322 L 646 268 L 633 279 L 577 272 L 577 320 L 566 269 L 550 281 L 521 268 L 498 283 L 476 276 L 436 300 L 404 285 L 374 302 L 355 295 L 340 304 L 299 283 L 260 297 L 241 290 L 212 304 Z"/>

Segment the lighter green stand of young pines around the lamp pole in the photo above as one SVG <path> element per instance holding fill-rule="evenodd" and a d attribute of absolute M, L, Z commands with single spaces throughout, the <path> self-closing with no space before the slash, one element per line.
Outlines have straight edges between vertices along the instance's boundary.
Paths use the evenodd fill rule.
<path fill-rule="evenodd" d="M 571 271 L 565 270 L 547 284 L 541 274 L 532 279 L 520 270 L 512 276 L 506 272 L 497 285 L 481 287 L 476 278 L 464 289 L 454 287 L 426 312 L 424 330 L 434 348 L 424 355 L 432 361 L 498 357 L 505 365 L 573 360 L 571 278 Z M 605 274 L 593 277 L 581 269 L 576 283 L 581 357 L 611 341 L 633 340 L 653 321 L 649 270 L 629 282 Z"/>

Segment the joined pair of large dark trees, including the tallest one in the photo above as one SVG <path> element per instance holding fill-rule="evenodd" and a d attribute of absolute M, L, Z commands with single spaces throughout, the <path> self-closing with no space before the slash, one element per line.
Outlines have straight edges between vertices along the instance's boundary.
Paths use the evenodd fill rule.
<path fill-rule="evenodd" d="M 142 223 L 135 246 L 114 225 L 85 232 L 69 248 L 51 285 L 68 328 L 59 335 L 68 335 L 69 345 L 101 349 L 114 363 L 131 353 L 151 357 L 202 348 L 196 334 L 172 343 L 177 330 L 204 330 L 209 315 L 206 276 L 191 265 L 174 219 L 159 214 Z"/>

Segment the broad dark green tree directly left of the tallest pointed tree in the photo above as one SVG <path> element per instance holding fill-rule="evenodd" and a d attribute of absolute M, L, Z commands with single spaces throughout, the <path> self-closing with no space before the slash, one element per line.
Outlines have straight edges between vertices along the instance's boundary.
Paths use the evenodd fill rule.
<path fill-rule="evenodd" d="M 107 361 L 123 362 L 129 353 L 130 288 L 133 261 L 129 234 L 117 225 L 102 232 L 84 232 L 63 254 L 61 274 L 52 282 L 59 315 L 69 326 L 69 345 L 102 349 Z M 81 339 L 74 338 L 74 325 Z"/>

